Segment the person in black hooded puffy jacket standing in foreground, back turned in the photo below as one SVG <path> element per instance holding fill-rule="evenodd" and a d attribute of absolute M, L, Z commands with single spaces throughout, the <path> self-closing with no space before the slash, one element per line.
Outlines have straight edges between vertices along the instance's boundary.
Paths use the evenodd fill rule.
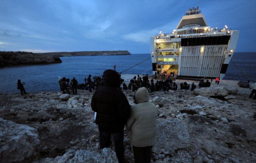
<path fill-rule="evenodd" d="M 125 162 L 124 126 L 130 116 L 130 104 L 124 93 L 118 89 L 120 86 L 118 72 L 105 70 L 103 79 L 104 86 L 99 87 L 91 99 L 91 108 L 97 112 L 95 122 L 100 133 L 100 148 L 108 148 L 113 135 L 118 162 Z"/>

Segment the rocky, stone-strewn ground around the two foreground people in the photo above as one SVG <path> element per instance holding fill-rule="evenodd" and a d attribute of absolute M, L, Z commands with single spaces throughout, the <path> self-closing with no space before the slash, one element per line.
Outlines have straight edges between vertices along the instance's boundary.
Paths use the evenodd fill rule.
<path fill-rule="evenodd" d="M 133 105 L 133 93 L 124 93 Z M 158 112 L 152 162 L 256 162 L 256 101 L 228 93 L 211 87 L 151 93 Z M 116 162 L 113 145 L 99 151 L 92 95 L 1 94 L 0 162 Z M 126 160 L 134 162 L 127 131 L 124 145 Z"/>

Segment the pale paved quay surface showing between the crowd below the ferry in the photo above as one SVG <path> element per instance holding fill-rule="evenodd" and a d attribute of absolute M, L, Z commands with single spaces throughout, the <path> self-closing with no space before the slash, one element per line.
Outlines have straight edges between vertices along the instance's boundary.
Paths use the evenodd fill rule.
<path fill-rule="evenodd" d="M 130 79 L 133 78 L 134 76 L 137 77 L 138 74 L 121 74 L 122 79 L 124 79 L 125 83 L 128 85 L 130 82 Z M 142 76 L 142 75 L 140 75 Z M 178 89 L 180 89 L 180 84 L 182 82 L 187 82 L 188 84 L 192 84 L 193 82 L 196 84 L 198 87 L 199 81 L 191 81 L 191 80 L 175 80 L 175 83 L 178 85 Z M 206 80 L 205 80 L 206 81 Z M 209 79 L 211 82 L 211 79 Z M 154 80 L 156 82 L 156 80 Z M 250 82 L 250 86 L 253 85 L 253 82 Z M 219 84 L 215 84 L 215 80 L 212 81 L 211 87 L 220 87 L 220 86 L 225 86 L 226 88 L 237 88 L 239 94 L 246 94 L 250 95 L 252 92 L 252 89 L 249 88 L 244 88 L 244 87 L 239 87 L 238 81 L 237 80 L 221 80 Z"/>

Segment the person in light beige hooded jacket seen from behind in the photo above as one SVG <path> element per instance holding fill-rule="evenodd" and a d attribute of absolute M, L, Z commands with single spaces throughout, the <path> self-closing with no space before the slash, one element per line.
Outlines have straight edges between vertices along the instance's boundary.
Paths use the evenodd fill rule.
<path fill-rule="evenodd" d="M 126 130 L 131 132 L 130 143 L 135 163 L 150 163 L 151 149 L 156 142 L 156 107 L 149 102 L 148 90 L 141 87 L 134 93 L 131 115 Z"/>

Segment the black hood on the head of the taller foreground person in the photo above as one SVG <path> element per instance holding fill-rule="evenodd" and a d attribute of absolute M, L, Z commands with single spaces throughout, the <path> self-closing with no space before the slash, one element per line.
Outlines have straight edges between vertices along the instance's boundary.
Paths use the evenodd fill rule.
<path fill-rule="evenodd" d="M 103 72 L 103 78 L 105 86 L 113 86 L 119 88 L 120 86 L 120 75 L 115 70 L 105 70 Z"/>

